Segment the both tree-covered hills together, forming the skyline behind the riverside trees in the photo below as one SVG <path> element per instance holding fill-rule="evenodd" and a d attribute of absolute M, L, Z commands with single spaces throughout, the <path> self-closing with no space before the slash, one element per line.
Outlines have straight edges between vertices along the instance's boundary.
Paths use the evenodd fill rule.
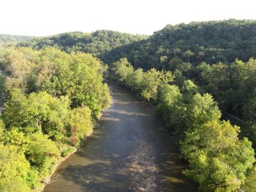
<path fill-rule="evenodd" d="M 112 63 L 126 57 L 134 67 L 172 70 L 175 63 L 198 65 L 205 61 L 232 63 L 256 56 L 256 21 L 224 20 L 167 25 L 152 36 L 99 30 L 33 38 L 21 46 L 58 46 L 63 51 L 84 51 Z"/>

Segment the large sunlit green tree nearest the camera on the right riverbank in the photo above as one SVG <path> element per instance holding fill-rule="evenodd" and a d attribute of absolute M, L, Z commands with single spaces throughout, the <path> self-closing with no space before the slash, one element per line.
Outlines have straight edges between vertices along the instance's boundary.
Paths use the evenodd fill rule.
<path fill-rule="evenodd" d="M 236 191 L 254 163 L 252 143 L 239 140 L 239 127 L 212 121 L 186 132 L 181 151 L 189 161 L 185 174 L 200 184 L 202 191 Z"/>

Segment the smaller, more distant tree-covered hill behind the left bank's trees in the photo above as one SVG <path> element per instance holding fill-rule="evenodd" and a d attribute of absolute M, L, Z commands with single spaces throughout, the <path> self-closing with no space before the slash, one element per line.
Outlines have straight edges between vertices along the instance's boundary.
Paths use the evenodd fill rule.
<path fill-rule="evenodd" d="M 131 35 L 117 31 L 99 30 L 93 33 L 70 32 L 42 38 L 33 38 L 20 46 L 40 49 L 44 46 L 58 46 L 61 50 L 83 51 L 93 56 L 102 56 L 113 48 L 147 38 L 146 35 Z"/>

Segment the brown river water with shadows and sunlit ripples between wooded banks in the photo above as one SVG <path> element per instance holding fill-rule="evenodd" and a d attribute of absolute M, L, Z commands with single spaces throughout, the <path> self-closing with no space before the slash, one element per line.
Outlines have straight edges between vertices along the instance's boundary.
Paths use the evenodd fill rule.
<path fill-rule="evenodd" d="M 99 128 L 54 172 L 48 191 L 196 191 L 186 163 L 154 109 L 110 85 L 111 106 Z"/>

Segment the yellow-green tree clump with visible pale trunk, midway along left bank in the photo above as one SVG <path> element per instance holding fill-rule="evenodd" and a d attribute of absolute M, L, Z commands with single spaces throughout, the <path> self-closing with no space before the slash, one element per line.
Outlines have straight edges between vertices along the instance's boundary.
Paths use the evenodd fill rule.
<path fill-rule="evenodd" d="M 36 127 L 53 140 L 61 140 L 65 134 L 69 106 L 67 99 L 57 99 L 46 92 L 24 96 L 13 90 L 5 104 L 4 122 L 8 127 Z"/>

